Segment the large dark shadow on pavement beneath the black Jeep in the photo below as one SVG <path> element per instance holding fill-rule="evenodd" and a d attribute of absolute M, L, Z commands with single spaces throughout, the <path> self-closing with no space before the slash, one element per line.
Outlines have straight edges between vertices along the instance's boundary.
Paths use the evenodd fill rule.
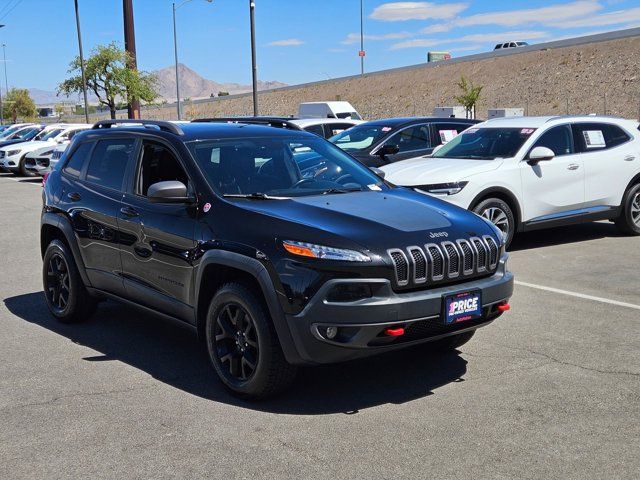
<path fill-rule="evenodd" d="M 115 302 L 100 305 L 86 323 L 65 325 L 47 311 L 42 292 L 6 298 L 14 315 L 92 348 L 102 355 L 86 361 L 118 360 L 199 397 L 254 410 L 296 415 L 357 413 L 386 403 L 401 404 L 462 381 L 466 360 L 457 352 L 435 354 L 414 347 L 344 364 L 305 368 L 293 387 L 261 402 L 229 394 L 189 329 Z"/>

